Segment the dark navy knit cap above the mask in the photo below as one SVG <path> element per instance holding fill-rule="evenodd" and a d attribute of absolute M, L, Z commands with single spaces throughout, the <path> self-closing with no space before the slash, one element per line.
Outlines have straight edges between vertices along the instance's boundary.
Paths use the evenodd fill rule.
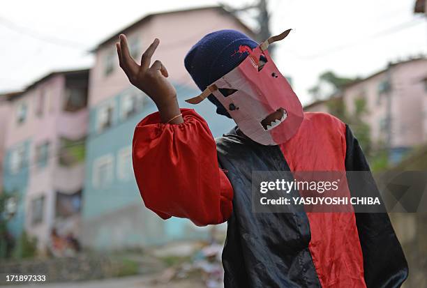
<path fill-rule="evenodd" d="M 226 29 L 207 34 L 195 43 L 184 59 L 184 65 L 200 90 L 229 73 L 244 61 L 250 50 L 258 46 L 254 40 L 236 30 Z M 250 48 L 247 49 L 247 48 Z M 230 117 L 227 110 L 213 96 L 216 113 Z M 230 117 L 231 118 L 231 117 Z"/>

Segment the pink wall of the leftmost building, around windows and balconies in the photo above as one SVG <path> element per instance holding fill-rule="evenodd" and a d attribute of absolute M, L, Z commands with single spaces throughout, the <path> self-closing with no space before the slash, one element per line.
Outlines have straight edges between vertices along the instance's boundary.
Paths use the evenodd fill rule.
<path fill-rule="evenodd" d="M 45 94 L 43 115 L 36 114 L 38 97 Z M 79 139 L 86 135 L 88 112 L 87 108 L 77 112 L 64 112 L 63 101 L 66 93 L 66 78 L 63 74 L 54 74 L 31 86 L 22 96 L 10 100 L 10 121 L 6 129 L 5 149 L 13 149 L 17 144 L 29 140 L 29 182 L 24 199 L 25 229 L 31 236 L 38 238 L 39 248 L 45 248 L 49 241 L 50 229 L 54 225 L 54 206 L 57 190 L 68 192 L 80 185 L 84 178 L 84 163 L 71 168 L 59 165 L 58 154 L 60 138 Z M 17 123 L 17 110 L 27 104 L 27 117 L 24 123 Z M 35 163 L 36 146 L 49 142 L 47 165 L 40 168 Z M 63 171 L 63 170 L 68 171 Z M 66 175 L 66 176 L 64 176 Z M 74 192 L 75 190 L 70 190 Z M 43 221 L 31 223 L 31 202 L 44 196 Z M 78 221 L 75 220 L 75 221 Z"/>

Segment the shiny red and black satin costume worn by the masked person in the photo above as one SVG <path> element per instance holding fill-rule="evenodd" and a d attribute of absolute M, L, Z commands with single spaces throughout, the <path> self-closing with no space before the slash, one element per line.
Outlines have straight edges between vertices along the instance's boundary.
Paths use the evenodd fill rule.
<path fill-rule="evenodd" d="M 294 137 L 264 146 L 239 128 L 214 140 L 193 109 L 181 112 L 179 125 L 160 123 L 154 113 L 135 128 L 137 184 L 144 204 L 163 219 L 227 221 L 225 287 L 400 287 L 407 278 L 387 213 L 251 211 L 253 170 L 368 171 L 345 123 L 305 113 Z M 366 190 L 378 193 L 373 181 Z"/>

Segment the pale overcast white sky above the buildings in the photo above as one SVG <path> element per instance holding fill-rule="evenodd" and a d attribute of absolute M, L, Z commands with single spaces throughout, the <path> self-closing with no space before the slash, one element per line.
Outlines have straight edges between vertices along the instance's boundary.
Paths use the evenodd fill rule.
<path fill-rule="evenodd" d="M 101 40 L 164 10 L 255 0 L 5 1 L 0 10 L 0 91 L 23 89 L 52 70 L 87 68 Z M 271 32 L 293 31 L 277 46 L 274 61 L 292 77 L 307 104 L 308 89 L 325 70 L 367 77 L 389 61 L 427 54 L 427 17 L 412 13 L 414 0 L 270 0 Z M 239 17 L 255 27 L 251 13 Z"/>

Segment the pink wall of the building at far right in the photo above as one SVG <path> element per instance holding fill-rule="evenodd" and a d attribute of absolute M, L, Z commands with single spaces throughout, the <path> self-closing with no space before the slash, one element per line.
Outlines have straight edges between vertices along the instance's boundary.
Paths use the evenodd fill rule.
<path fill-rule="evenodd" d="M 391 147 L 417 146 L 427 141 L 427 91 L 422 78 L 427 75 L 427 59 L 414 59 L 391 66 Z M 365 121 L 371 128 L 371 139 L 384 142 L 387 116 L 387 93 L 378 99 L 378 86 L 387 79 L 387 71 L 347 87 L 342 93 L 347 111 L 354 112 L 354 100 L 363 96 L 368 113 Z M 327 112 L 326 102 L 310 105 L 307 111 Z"/>

